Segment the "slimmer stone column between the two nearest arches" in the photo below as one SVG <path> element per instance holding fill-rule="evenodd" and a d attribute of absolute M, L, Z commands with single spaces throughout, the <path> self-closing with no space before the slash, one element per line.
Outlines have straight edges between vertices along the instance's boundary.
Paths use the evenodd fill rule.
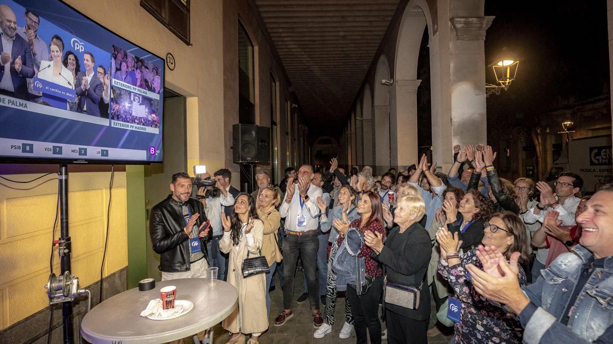
<path fill-rule="evenodd" d="M 417 161 L 417 87 L 421 80 L 396 80 L 396 116 L 392 121 L 393 166 L 409 166 Z"/>

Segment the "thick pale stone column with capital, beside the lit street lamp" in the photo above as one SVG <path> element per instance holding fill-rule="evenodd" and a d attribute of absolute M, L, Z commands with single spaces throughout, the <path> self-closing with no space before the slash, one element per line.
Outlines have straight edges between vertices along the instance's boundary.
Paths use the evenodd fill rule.
<path fill-rule="evenodd" d="M 493 18 L 450 19 L 451 140 L 443 142 L 444 151 L 451 151 L 454 144 L 487 143 L 484 40 Z"/>

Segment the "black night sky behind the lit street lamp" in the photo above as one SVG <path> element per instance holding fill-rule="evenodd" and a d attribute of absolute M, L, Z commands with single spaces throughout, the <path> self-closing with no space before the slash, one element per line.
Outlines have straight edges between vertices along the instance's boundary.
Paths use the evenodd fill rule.
<path fill-rule="evenodd" d="M 530 118 L 560 99 L 588 99 L 609 85 L 605 0 L 485 1 L 496 18 L 485 37 L 485 64 L 503 54 L 520 59 L 508 91 L 487 99 L 488 122 L 496 116 Z M 486 80 L 494 83 L 491 67 Z"/>

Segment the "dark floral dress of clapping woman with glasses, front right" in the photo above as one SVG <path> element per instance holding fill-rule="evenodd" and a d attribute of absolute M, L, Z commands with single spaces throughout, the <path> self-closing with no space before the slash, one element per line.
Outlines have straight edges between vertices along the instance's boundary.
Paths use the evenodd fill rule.
<path fill-rule="evenodd" d="M 516 315 L 493 305 L 473 288 L 466 264 L 474 264 L 479 269 L 483 267 L 476 252 L 477 249 L 473 249 L 464 253 L 460 256 L 461 263 L 452 267 L 438 263 L 438 273 L 449 282 L 454 297 L 462 302 L 460 322 L 455 323 L 454 341 L 459 344 L 521 343 L 524 329 Z M 517 279 L 520 285 L 526 283 L 521 266 Z"/>

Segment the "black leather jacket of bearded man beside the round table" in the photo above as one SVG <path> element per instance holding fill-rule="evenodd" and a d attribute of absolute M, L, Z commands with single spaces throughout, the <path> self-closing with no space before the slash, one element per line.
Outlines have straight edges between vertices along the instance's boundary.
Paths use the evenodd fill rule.
<path fill-rule="evenodd" d="M 207 221 L 204 206 L 196 198 L 189 198 L 186 202 L 191 214 L 200 214 L 196 225 L 200 226 Z M 159 253 L 159 270 L 163 272 L 189 271 L 189 236 L 185 234 L 185 218 L 181 214 L 183 203 L 173 200 L 168 195 L 166 200 L 156 204 L 151 209 L 149 235 L 153 242 L 153 250 Z M 200 238 L 200 247 L 204 259 L 208 260 L 207 241 L 213 237 L 213 228 L 208 236 Z"/>

